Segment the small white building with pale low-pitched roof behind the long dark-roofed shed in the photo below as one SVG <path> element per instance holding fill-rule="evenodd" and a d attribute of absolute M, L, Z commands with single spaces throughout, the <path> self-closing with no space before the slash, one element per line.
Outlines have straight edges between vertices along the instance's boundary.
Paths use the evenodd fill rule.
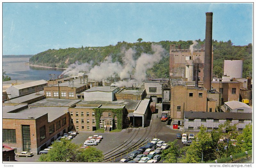
<path fill-rule="evenodd" d="M 251 106 L 236 100 L 225 102 L 221 109 L 230 113 L 252 113 Z"/>

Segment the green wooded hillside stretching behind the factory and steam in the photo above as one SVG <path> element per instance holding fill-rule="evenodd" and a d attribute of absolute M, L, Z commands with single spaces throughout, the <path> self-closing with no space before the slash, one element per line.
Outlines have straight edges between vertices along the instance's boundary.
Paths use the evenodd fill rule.
<path fill-rule="evenodd" d="M 38 53 L 29 59 L 29 63 L 33 65 L 50 66 L 67 68 L 75 62 L 85 63 L 93 61 L 94 65 L 99 65 L 107 56 L 111 55 L 112 62 L 122 62 L 124 54 L 121 52 L 123 48 L 132 48 L 136 50 L 133 58 L 137 60 L 141 53 L 152 54 L 151 44 L 160 44 L 166 50 L 166 56 L 156 63 L 153 68 L 147 70 L 148 77 L 166 77 L 169 74 L 169 49 L 170 44 L 175 44 L 176 48 L 189 49 L 193 44 L 192 40 L 188 41 L 160 41 L 160 42 L 118 42 L 115 46 L 109 45 L 105 47 L 80 47 L 66 49 L 49 49 Z M 204 41 L 196 40 L 198 44 L 194 48 L 204 48 Z M 212 40 L 213 44 L 213 74 L 215 77 L 221 77 L 223 60 L 227 59 L 243 59 L 243 77 L 252 76 L 252 44 L 247 46 L 233 46 L 229 40 L 227 42 Z M 166 74 L 166 75 L 165 75 Z"/>

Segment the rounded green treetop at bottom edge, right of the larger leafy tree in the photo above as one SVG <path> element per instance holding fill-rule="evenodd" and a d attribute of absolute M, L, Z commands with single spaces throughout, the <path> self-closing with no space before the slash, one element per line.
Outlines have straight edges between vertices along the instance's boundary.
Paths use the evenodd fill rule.
<path fill-rule="evenodd" d="M 96 148 L 86 148 L 81 153 L 78 153 L 76 156 L 77 162 L 102 162 L 104 155 L 101 150 Z"/>

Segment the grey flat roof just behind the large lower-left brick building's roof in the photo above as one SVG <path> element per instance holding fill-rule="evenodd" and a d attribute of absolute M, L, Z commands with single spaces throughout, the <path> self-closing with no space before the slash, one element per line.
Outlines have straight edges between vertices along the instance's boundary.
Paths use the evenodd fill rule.
<path fill-rule="evenodd" d="M 57 99 L 57 98 L 46 98 L 39 100 L 29 106 L 72 106 L 81 101 L 81 99 Z"/>

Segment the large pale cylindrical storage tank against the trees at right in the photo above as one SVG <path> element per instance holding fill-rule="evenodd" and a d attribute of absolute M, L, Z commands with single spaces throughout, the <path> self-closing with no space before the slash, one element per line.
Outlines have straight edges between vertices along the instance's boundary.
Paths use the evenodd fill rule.
<path fill-rule="evenodd" d="M 243 77 L 243 60 L 224 60 L 223 75 L 230 79 Z"/>

